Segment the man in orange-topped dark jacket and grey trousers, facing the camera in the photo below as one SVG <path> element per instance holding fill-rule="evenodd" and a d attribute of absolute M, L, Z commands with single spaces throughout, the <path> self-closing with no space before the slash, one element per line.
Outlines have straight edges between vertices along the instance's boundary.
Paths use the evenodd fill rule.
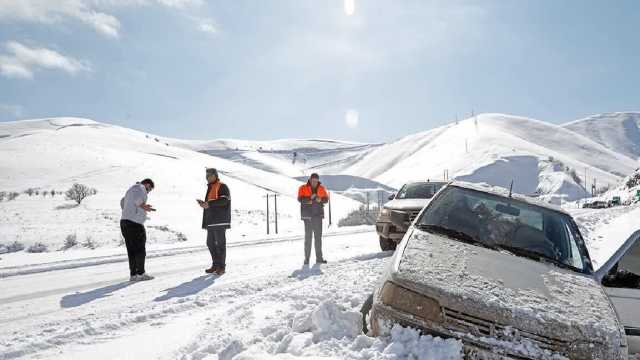
<path fill-rule="evenodd" d="M 311 255 L 311 238 L 315 239 L 316 264 L 326 264 L 322 256 L 322 219 L 324 204 L 329 202 L 329 193 L 320 183 L 318 174 L 311 174 L 306 184 L 298 189 L 300 213 L 304 221 L 304 264 L 309 264 Z"/>

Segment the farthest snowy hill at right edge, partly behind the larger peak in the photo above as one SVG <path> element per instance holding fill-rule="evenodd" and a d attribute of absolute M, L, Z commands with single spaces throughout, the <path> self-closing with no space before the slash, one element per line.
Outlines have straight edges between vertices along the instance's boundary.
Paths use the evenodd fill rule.
<path fill-rule="evenodd" d="M 640 157 L 640 112 L 617 112 L 589 116 L 563 125 L 598 144 L 632 159 Z"/>

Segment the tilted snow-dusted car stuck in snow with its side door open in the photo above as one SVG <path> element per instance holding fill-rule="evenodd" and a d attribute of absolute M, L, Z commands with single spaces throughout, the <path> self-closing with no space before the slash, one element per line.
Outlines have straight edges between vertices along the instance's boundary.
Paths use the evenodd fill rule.
<path fill-rule="evenodd" d="M 363 325 L 457 338 L 471 359 L 626 360 L 640 353 L 640 289 L 617 279 L 640 274 L 638 237 L 594 270 L 568 213 L 454 182 L 412 223 Z"/>

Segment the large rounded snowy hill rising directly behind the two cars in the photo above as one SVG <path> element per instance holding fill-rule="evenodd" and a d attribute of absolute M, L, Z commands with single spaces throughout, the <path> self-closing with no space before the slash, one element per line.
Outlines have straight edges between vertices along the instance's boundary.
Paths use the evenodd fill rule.
<path fill-rule="evenodd" d="M 408 180 L 486 182 L 514 191 L 575 199 L 593 178 L 615 184 L 636 161 L 554 124 L 503 114 L 482 114 L 370 150 L 340 171 L 399 187 Z M 332 169 L 336 171 L 336 169 Z"/>

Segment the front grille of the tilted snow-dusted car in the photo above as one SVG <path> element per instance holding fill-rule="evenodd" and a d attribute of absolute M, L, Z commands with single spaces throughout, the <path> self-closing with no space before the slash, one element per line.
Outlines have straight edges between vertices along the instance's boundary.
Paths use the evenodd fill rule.
<path fill-rule="evenodd" d="M 443 308 L 443 312 L 445 324 L 451 330 L 467 332 L 479 337 L 486 336 L 493 338 L 508 337 L 510 339 L 526 339 L 541 349 L 560 352 L 561 354 L 564 353 L 569 346 L 569 343 L 566 341 L 536 335 L 513 327 L 497 325 L 491 321 L 458 312 L 453 309 Z"/>

